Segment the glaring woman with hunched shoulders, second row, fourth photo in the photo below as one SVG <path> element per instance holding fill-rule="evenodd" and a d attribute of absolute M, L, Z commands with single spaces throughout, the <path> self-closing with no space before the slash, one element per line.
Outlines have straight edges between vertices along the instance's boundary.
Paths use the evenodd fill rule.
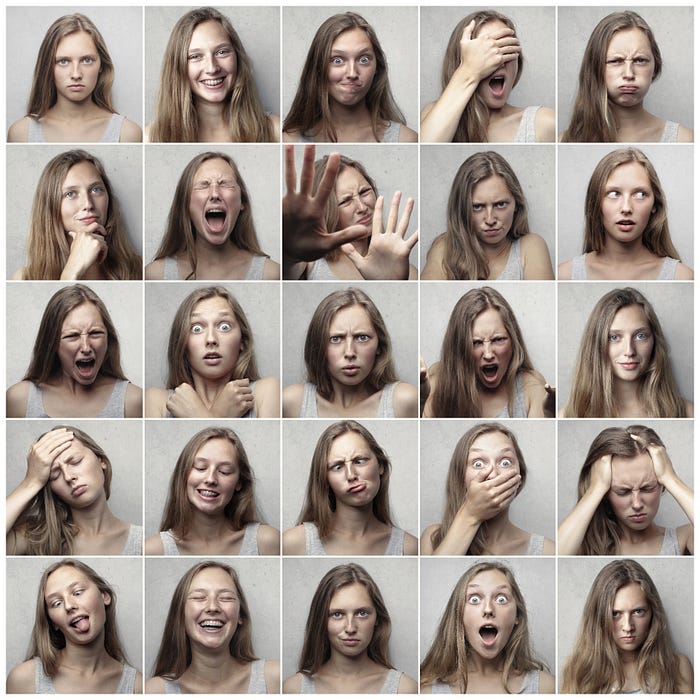
<path fill-rule="evenodd" d="M 547 244 L 530 233 L 527 201 L 508 161 L 469 156 L 452 181 L 447 231 L 428 251 L 422 279 L 554 279 Z"/>

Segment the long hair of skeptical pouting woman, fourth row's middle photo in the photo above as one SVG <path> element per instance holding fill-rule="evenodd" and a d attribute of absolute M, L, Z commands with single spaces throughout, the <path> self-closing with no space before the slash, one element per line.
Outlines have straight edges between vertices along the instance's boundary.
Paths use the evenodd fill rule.
<path fill-rule="evenodd" d="M 338 421 L 328 426 L 316 443 L 316 449 L 311 458 L 309 480 L 306 483 L 304 505 L 297 519 L 297 525 L 304 522 L 314 523 L 321 539 L 333 531 L 336 509 L 335 494 L 328 484 L 328 453 L 336 438 L 350 432 L 357 433 L 367 443 L 367 447 L 374 454 L 379 465 L 379 491 L 372 501 L 372 513 L 379 522 L 393 525 L 389 509 L 389 476 L 391 474 L 389 457 L 364 425 L 354 420 Z"/>

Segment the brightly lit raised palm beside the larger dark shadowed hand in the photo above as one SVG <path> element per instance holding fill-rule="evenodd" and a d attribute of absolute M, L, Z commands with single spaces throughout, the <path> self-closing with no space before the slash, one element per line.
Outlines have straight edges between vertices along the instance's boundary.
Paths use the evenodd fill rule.
<path fill-rule="evenodd" d="M 366 280 L 408 279 L 408 256 L 418 242 L 418 231 L 404 241 L 403 237 L 408 229 L 414 200 L 409 199 L 406 202 L 406 208 L 397 226 L 400 203 L 401 192 L 397 192 L 391 201 L 386 230 L 382 231 L 384 197 L 377 199 L 372 219 L 372 237 L 369 239 L 366 255 L 363 256 L 352 243 L 345 243 L 340 247 Z"/>

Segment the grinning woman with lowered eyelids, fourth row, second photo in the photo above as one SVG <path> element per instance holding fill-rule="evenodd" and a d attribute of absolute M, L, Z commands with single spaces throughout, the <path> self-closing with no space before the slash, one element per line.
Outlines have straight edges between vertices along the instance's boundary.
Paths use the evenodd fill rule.
<path fill-rule="evenodd" d="M 146 554 L 279 554 L 279 532 L 258 520 L 254 483 L 233 430 L 200 430 L 178 457 L 161 532 L 146 540 Z"/>

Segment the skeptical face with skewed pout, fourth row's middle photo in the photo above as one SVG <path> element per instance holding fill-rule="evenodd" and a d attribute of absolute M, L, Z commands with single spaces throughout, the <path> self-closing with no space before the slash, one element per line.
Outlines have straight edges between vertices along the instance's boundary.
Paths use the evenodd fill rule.
<path fill-rule="evenodd" d="M 336 502 L 354 507 L 371 505 L 379 493 L 384 469 L 362 435 L 350 430 L 335 438 L 327 464 L 326 478 Z"/>

